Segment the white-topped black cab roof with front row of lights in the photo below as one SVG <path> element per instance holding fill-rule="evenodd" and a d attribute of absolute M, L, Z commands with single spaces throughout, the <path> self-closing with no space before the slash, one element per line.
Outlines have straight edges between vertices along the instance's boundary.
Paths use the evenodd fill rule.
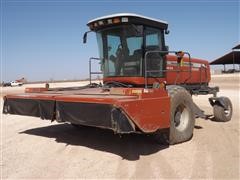
<path fill-rule="evenodd" d="M 120 21 L 117 23 L 113 23 L 113 20 L 119 19 Z M 112 22 L 112 23 L 109 23 Z M 163 20 L 154 19 L 138 14 L 133 13 L 117 13 L 111 14 L 107 16 L 98 17 L 90 20 L 87 25 L 93 31 L 97 31 L 99 29 L 103 29 L 109 26 L 116 26 L 119 24 L 141 24 L 151 27 L 156 27 L 159 29 L 166 30 L 168 28 L 168 23 Z"/>

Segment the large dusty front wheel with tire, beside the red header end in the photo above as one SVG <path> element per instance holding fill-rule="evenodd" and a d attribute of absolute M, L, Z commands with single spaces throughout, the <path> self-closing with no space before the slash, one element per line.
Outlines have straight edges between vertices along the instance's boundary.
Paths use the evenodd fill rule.
<path fill-rule="evenodd" d="M 167 86 L 167 90 L 171 98 L 169 144 L 188 141 L 195 125 L 192 97 L 180 86 Z"/>

